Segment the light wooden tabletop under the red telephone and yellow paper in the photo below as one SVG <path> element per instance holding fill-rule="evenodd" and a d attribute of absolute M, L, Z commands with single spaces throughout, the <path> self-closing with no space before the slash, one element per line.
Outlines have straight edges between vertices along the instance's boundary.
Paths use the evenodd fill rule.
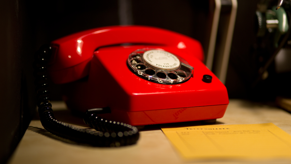
<path fill-rule="evenodd" d="M 66 109 L 64 102 L 52 102 L 58 120 L 86 127 L 82 118 L 75 117 Z M 291 114 L 273 105 L 245 100 L 230 100 L 223 118 L 217 124 L 259 124 L 272 122 L 291 135 Z M 200 125 L 199 121 L 180 123 Z M 178 124 L 178 125 L 180 125 Z M 171 124 L 177 125 L 177 124 Z M 31 121 L 9 164 L 75 164 L 75 163 L 291 163 L 291 160 L 273 161 L 184 161 L 159 125 L 149 125 L 140 131 L 135 145 L 100 148 L 80 145 L 47 132 L 36 118 Z"/>

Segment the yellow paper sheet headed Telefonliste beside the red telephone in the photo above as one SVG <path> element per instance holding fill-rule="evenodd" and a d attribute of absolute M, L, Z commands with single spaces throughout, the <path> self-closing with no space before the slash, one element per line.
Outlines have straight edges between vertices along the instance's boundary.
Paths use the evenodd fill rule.
<path fill-rule="evenodd" d="M 162 130 L 186 159 L 291 158 L 291 136 L 273 123 Z"/>

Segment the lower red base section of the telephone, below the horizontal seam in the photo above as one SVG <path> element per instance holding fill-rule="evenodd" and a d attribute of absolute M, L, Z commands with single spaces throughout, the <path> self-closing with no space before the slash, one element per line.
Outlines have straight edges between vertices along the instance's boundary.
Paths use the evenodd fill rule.
<path fill-rule="evenodd" d="M 212 124 L 215 123 L 217 118 L 223 117 L 227 106 L 228 104 L 138 112 L 126 112 L 111 108 L 111 113 L 98 115 L 108 120 L 124 122 L 134 126 L 198 120 Z"/>

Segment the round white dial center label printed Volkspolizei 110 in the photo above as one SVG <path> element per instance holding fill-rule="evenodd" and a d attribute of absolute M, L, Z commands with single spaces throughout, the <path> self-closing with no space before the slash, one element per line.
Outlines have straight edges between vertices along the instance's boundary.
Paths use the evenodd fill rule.
<path fill-rule="evenodd" d="M 174 54 L 162 50 L 144 52 L 143 60 L 148 65 L 159 69 L 174 70 L 180 66 L 180 60 Z"/>

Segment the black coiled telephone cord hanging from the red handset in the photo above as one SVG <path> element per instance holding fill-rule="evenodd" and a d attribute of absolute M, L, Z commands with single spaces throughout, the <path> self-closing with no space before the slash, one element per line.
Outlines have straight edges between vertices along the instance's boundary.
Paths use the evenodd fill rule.
<path fill-rule="evenodd" d="M 89 109 L 84 122 L 97 131 L 82 129 L 57 120 L 50 104 L 46 65 L 51 56 L 51 47 L 43 45 L 34 55 L 34 76 L 38 98 L 38 112 L 42 126 L 49 132 L 79 143 L 98 147 L 119 147 L 135 144 L 139 138 L 136 127 L 121 122 L 102 119 L 97 114 L 102 108 Z M 104 111 L 103 111 L 104 112 Z"/>

